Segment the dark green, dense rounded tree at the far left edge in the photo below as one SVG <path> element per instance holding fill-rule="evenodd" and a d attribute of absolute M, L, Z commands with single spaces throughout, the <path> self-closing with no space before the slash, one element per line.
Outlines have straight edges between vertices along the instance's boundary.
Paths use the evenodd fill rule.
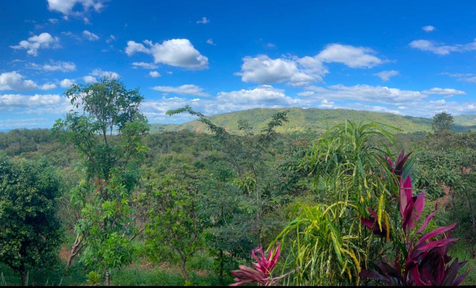
<path fill-rule="evenodd" d="M 57 257 L 61 180 L 46 162 L 10 161 L 0 155 L 0 262 L 26 284 L 30 269 Z"/>

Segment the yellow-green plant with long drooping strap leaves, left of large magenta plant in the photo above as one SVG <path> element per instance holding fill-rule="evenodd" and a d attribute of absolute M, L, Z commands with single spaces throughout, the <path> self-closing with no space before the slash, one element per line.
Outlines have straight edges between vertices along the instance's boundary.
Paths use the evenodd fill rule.
<path fill-rule="evenodd" d="M 299 205 L 297 218 L 277 237 L 292 241 L 295 285 L 358 284 L 361 267 L 376 249 L 360 217 L 378 207 L 375 216 L 382 231 L 389 210 L 395 211 L 388 202 L 398 195 L 398 181 L 381 157 L 391 154 L 385 143 L 395 140 L 377 123 L 347 121 L 325 132 L 307 153 L 301 167 L 309 171 L 320 203 Z"/>

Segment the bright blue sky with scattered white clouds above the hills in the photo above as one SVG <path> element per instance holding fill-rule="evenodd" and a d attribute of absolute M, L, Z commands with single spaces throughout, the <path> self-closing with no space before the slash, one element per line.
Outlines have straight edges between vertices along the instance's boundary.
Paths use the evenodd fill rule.
<path fill-rule="evenodd" d="M 150 122 L 190 105 L 476 114 L 473 1 L 0 1 L 0 129 L 51 127 L 101 76 Z"/>

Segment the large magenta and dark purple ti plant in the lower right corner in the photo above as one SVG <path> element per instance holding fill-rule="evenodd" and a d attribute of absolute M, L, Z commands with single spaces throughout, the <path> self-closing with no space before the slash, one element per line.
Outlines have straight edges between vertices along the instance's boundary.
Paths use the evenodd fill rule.
<path fill-rule="evenodd" d="M 407 249 L 396 247 L 396 257 L 391 262 L 392 264 L 389 264 L 384 257 L 375 263 L 375 269 L 362 270 L 360 276 L 364 281 L 376 281 L 388 286 L 458 286 L 467 276 L 466 273 L 458 277 L 458 271 L 465 266 L 466 262 L 459 262 L 458 259 L 451 261 L 452 259 L 448 255 L 449 247 L 451 243 L 458 239 L 450 238 L 445 234 L 445 232 L 449 233 L 449 230 L 453 229 L 456 223 L 434 229 L 425 234 L 425 228 L 436 213 L 437 205 L 435 205 L 434 211 L 426 217 L 421 227 L 413 233 L 414 236 L 409 236 L 425 206 L 424 193 L 413 195 L 410 176 L 405 180 L 402 179 L 403 167 L 410 154 L 405 155 L 404 150 L 402 150 L 395 164 L 390 158 L 386 158 L 392 168 L 391 172 L 399 176 L 400 180 L 398 205 L 403 233 L 394 235 L 394 238 L 405 244 Z M 375 230 L 375 223 L 378 220 L 375 212 L 371 209 L 369 211 L 373 217 L 370 217 L 370 219 L 361 218 L 362 223 L 374 234 L 382 236 L 379 234 L 378 227 Z M 394 231 L 394 233 L 397 232 Z M 438 239 L 437 237 L 440 235 L 441 237 Z M 415 237 L 419 237 L 416 243 L 414 241 Z M 403 267 L 400 266 L 399 259 L 405 259 Z"/>

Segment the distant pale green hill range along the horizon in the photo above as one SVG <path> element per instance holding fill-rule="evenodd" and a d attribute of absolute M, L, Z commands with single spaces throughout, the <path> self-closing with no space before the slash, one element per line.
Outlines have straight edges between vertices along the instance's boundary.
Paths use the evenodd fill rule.
<path fill-rule="evenodd" d="M 225 127 L 233 134 L 239 133 L 238 120 L 247 119 L 254 131 L 259 131 L 271 120 L 273 114 L 280 111 L 288 111 L 289 122 L 278 127 L 277 132 L 323 132 L 328 127 L 344 123 L 345 119 L 351 121 L 375 121 L 386 125 L 391 125 L 402 129 L 404 132 L 431 131 L 432 120 L 429 118 L 401 116 L 391 113 L 378 113 L 369 111 L 355 111 L 345 109 L 302 109 L 302 108 L 276 108 L 264 109 L 256 108 L 250 110 L 237 111 L 209 116 L 209 119 L 216 125 Z M 455 116 L 456 130 L 466 131 L 476 129 L 476 115 Z M 191 130 L 197 132 L 207 132 L 206 125 L 194 120 L 183 124 L 152 124 L 151 132 Z"/>

